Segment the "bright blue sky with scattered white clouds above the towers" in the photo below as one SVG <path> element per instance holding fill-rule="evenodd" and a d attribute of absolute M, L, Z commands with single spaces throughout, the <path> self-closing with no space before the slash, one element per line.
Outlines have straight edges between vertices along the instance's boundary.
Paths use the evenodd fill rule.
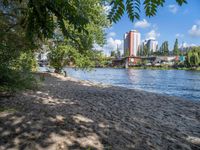
<path fill-rule="evenodd" d="M 166 1 L 154 17 L 146 17 L 141 8 L 140 20 L 131 22 L 125 14 L 121 20 L 107 29 L 107 44 L 103 50 L 109 54 L 118 45 L 123 48 L 123 35 L 132 29 L 141 33 L 142 40 L 156 38 L 159 46 L 169 42 L 170 50 L 176 38 L 184 46 L 200 45 L 200 0 L 187 0 L 188 4 L 178 6 L 175 0 Z M 143 6 L 142 6 L 143 7 Z"/>

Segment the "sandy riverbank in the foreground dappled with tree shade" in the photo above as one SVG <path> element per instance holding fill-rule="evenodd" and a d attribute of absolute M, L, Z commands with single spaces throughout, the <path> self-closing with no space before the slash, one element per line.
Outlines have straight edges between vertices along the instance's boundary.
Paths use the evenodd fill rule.
<path fill-rule="evenodd" d="M 200 149 L 200 103 L 45 74 L 0 99 L 0 149 Z"/>

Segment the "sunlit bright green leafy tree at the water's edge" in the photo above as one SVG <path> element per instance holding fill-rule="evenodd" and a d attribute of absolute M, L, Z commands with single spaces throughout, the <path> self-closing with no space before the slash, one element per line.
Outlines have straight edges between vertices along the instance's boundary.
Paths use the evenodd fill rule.
<path fill-rule="evenodd" d="M 80 0 L 80 3 L 84 3 Z M 103 10 L 102 5 L 96 5 L 99 0 L 88 0 L 83 6 L 83 13 L 90 22 L 83 27 L 86 32 L 77 31 L 69 21 L 64 21 L 64 26 L 72 38 L 62 35 L 57 28 L 55 33 L 54 47 L 51 48 L 49 55 L 50 65 L 57 73 L 60 73 L 66 65 L 72 65 L 82 69 L 88 69 L 95 66 L 95 62 L 101 59 L 100 53 L 94 50 L 94 44 L 103 46 L 105 43 L 104 29 L 108 27 L 109 22 Z M 100 57 L 100 58 L 98 58 Z"/>

